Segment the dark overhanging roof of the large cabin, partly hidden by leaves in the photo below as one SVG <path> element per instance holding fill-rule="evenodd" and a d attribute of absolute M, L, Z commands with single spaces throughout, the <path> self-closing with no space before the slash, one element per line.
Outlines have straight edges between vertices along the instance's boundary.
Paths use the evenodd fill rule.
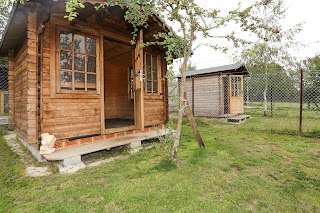
<path fill-rule="evenodd" d="M 27 39 L 27 25 L 28 25 L 28 12 L 31 11 L 40 11 L 39 13 L 46 13 L 49 14 L 51 12 L 56 12 L 62 18 L 66 15 L 65 10 L 62 11 L 62 8 L 65 6 L 65 0 L 29 0 L 26 1 L 24 4 L 19 3 L 16 1 L 12 7 L 8 23 L 5 27 L 2 39 L 0 41 L 0 56 L 6 56 L 9 50 L 14 50 L 20 47 L 23 42 Z M 91 17 L 94 13 L 99 13 L 100 17 L 103 16 L 103 21 L 111 20 L 109 15 L 115 14 L 115 12 L 120 12 L 121 14 L 125 12 L 125 10 L 114 10 L 114 11 L 99 11 L 97 12 L 94 8 L 98 3 L 103 2 L 102 0 L 81 0 L 82 3 L 86 5 L 86 8 L 81 9 L 82 11 L 79 12 L 78 18 L 74 21 L 83 21 L 86 20 L 88 17 Z M 61 5 L 63 7 L 61 7 Z M 123 20 L 124 21 L 124 20 Z M 76 23 L 75 23 L 76 24 Z M 121 28 L 130 28 L 129 23 L 119 22 L 119 20 L 111 20 L 110 23 L 101 22 L 101 24 L 114 24 L 119 25 L 116 29 Z M 146 29 L 146 33 L 144 37 L 147 40 L 152 40 L 154 32 L 160 31 L 171 31 L 171 29 L 165 24 L 163 20 L 160 19 L 158 16 L 154 16 L 150 18 L 148 21 L 149 27 Z M 130 25 L 130 26 L 129 26 Z"/>

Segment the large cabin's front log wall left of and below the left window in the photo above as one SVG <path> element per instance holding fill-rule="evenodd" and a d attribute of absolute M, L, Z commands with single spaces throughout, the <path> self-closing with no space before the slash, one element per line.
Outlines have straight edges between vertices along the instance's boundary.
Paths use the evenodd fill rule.
<path fill-rule="evenodd" d="M 42 67 L 42 132 L 55 135 L 58 139 L 101 133 L 100 97 L 78 98 L 69 94 L 65 98 L 52 97 L 50 85 L 50 46 L 55 33 L 51 32 L 50 23 L 44 34 Z M 52 73 L 51 73 L 52 75 Z"/>

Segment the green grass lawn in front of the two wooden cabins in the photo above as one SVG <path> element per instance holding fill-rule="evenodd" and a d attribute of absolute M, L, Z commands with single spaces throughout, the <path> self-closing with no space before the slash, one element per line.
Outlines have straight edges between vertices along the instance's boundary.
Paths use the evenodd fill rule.
<path fill-rule="evenodd" d="M 171 144 L 161 142 L 40 178 L 24 175 L 0 137 L 0 212 L 320 212 L 320 138 L 275 132 L 268 119 L 198 120 L 205 149 L 185 125 L 177 166 L 167 158 Z"/>

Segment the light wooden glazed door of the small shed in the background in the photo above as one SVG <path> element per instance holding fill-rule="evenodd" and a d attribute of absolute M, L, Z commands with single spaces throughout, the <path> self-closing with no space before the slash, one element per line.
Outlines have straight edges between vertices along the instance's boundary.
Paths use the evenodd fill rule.
<path fill-rule="evenodd" d="M 229 76 L 230 114 L 244 113 L 243 106 L 243 76 Z"/>

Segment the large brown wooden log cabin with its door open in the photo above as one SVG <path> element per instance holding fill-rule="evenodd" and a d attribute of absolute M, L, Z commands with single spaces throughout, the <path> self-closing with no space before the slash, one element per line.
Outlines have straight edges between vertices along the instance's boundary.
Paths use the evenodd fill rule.
<path fill-rule="evenodd" d="M 140 45 L 168 28 L 151 17 L 133 46 L 125 9 L 80 2 L 85 8 L 73 22 L 63 0 L 16 3 L 0 43 L 9 123 L 35 149 L 42 133 L 57 138 L 59 151 L 165 129 L 168 121 L 165 50 Z"/>

